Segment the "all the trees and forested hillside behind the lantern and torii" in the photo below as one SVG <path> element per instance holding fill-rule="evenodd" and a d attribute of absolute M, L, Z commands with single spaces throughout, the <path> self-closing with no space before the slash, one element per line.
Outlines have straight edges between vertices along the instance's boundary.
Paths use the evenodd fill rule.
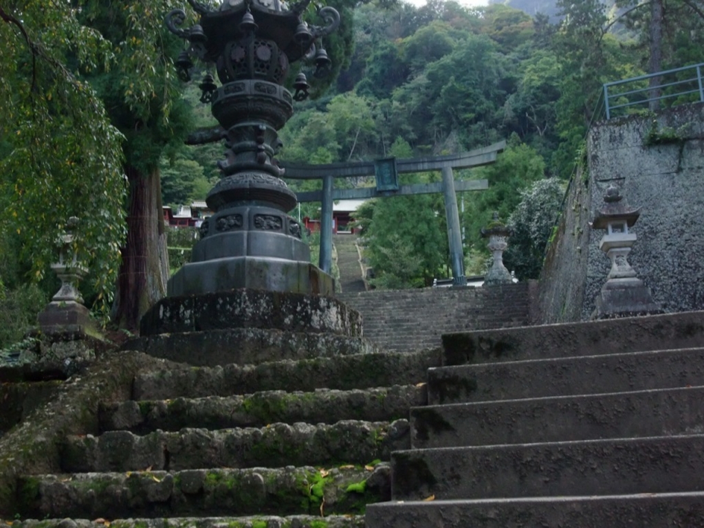
<path fill-rule="evenodd" d="M 458 196 L 467 274 L 484 270 L 479 230 L 495 210 L 515 230 L 509 268 L 520 278 L 539 273 L 586 132 L 603 116 L 604 82 L 704 61 L 702 0 L 328 3 L 344 18 L 328 46 L 336 75 L 296 103 L 279 159 L 439 155 L 505 139 L 493 165 L 455 171 L 455 179 L 489 181 L 486 191 Z M 161 203 L 202 199 L 223 151 L 184 145 L 189 132 L 214 122 L 198 102 L 200 77 L 183 84 L 173 68 L 180 43 L 163 17 L 181 4 L 0 6 L 0 327 L 8 335 L 56 291 L 46 272 L 70 215 L 81 217 L 75 250 L 91 270 L 82 286 L 89 303 L 112 306 L 115 320 L 134 327 L 163 294 Z M 422 173 L 402 182 L 439 179 Z M 296 190 L 313 184 L 289 182 Z M 315 203 L 302 209 L 318 214 Z M 372 200 L 358 222 L 377 287 L 448 275 L 441 196 Z"/>

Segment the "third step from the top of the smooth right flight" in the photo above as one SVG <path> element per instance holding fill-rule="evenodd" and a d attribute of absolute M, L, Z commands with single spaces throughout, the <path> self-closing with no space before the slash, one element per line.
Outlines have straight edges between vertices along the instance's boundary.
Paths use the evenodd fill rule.
<path fill-rule="evenodd" d="M 704 433 L 704 387 L 455 403 L 410 411 L 413 448 Z"/>

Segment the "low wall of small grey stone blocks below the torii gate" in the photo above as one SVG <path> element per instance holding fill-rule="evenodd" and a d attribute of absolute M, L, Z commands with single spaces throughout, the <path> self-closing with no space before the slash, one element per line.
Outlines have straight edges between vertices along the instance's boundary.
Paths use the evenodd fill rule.
<path fill-rule="evenodd" d="M 372 290 L 337 294 L 363 317 L 363 337 L 387 350 L 441 345 L 441 335 L 532 321 L 532 283 L 482 288 Z"/>

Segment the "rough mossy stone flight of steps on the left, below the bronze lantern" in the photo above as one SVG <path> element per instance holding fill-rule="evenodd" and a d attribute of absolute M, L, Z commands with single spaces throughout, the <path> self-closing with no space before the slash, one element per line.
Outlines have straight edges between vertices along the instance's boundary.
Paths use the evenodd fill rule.
<path fill-rule="evenodd" d="M 325 356 L 279 329 L 269 333 L 299 349 L 276 359 L 244 346 L 256 332 L 142 337 L 128 348 L 151 355 L 111 353 L 64 382 L 0 439 L 0 517 L 15 528 L 363 527 L 367 503 L 391 497 L 391 452 L 410 448 L 408 413 L 427 403 L 439 349 Z"/>

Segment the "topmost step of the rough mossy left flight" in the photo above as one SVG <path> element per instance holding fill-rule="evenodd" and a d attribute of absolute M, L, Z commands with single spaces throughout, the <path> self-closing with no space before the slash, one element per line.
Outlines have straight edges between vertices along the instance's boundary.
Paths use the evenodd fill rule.
<path fill-rule="evenodd" d="M 134 379 L 134 400 L 183 396 L 230 396 L 258 391 L 366 389 L 425 382 L 427 369 L 440 365 L 440 349 L 415 353 L 372 353 L 337 358 L 283 360 L 261 365 L 164 368 Z"/>

